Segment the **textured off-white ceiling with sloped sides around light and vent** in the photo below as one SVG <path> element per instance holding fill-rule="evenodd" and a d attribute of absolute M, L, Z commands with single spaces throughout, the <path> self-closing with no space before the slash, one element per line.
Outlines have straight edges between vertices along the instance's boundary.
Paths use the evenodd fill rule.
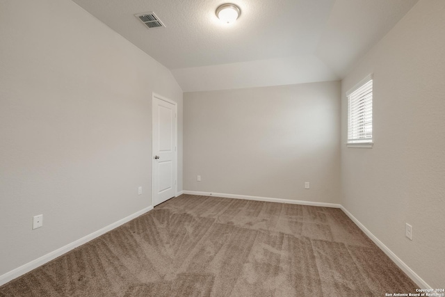
<path fill-rule="evenodd" d="M 343 78 L 418 0 L 73 0 L 168 67 L 184 92 Z M 215 15 L 235 3 L 241 16 Z M 135 14 L 153 11 L 165 28 Z"/>

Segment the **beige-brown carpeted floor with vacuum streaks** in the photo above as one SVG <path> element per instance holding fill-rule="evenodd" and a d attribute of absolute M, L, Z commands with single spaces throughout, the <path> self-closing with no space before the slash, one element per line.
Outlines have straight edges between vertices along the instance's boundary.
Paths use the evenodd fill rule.
<path fill-rule="evenodd" d="M 0 296 L 385 296 L 416 285 L 340 209 L 181 195 Z"/>

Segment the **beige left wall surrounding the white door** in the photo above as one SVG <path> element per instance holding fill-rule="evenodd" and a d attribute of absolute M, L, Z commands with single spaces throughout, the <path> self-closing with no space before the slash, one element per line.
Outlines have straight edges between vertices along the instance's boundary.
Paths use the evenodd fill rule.
<path fill-rule="evenodd" d="M 152 204 L 152 92 L 181 190 L 169 70 L 69 0 L 0 1 L 0 40 L 0 275 Z"/>

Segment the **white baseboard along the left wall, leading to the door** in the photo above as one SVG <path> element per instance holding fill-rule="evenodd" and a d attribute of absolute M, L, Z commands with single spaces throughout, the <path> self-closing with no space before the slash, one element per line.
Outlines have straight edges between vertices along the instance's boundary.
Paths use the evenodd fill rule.
<path fill-rule="evenodd" d="M 77 239 L 76 241 L 73 241 L 72 243 L 68 243 L 66 246 L 63 246 L 61 248 L 58 248 L 57 250 L 54 250 L 52 252 L 49 252 L 47 255 L 44 255 L 38 259 L 35 259 L 29 263 L 26 263 L 22 266 L 19 266 L 18 268 L 15 268 L 12 271 L 9 271 L 3 275 L 0 275 L 0 286 L 3 284 L 6 284 L 7 282 L 10 282 L 11 280 L 18 278 L 20 275 L 24 275 L 25 273 L 38 268 L 38 266 L 42 266 L 43 264 L 56 259 L 56 257 L 59 257 L 66 252 L 69 252 L 70 250 L 77 248 L 78 246 L 81 246 L 88 241 L 91 241 L 92 239 L 95 239 L 102 234 L 105 234 L 108 231 L 111 231 L 115 229 L 116 227 L 119 227 L 120 225 L 123 225 L 124 223 L 129 222 L 130 220 L 133 220 L 133 218 L 137 218 L 141 214 L 145 214 L 147 211 L 152 210 L 153 207 L 146 207 L 145 209 L 141 209 L 140 211 L 135 212 L 134 214 L 131 214 L 127 216 L 126 218 L 122 218 L 121 220 L 118 220 L 115 223 L 112 223 L 111 225 L 108 225 L 106 227 L 103 227 L 100 230 L 97 230 L 95 232 L 92 232 L 91 234 L 88 234 L 87 236 L 83 236 L 81 239 Z"/>

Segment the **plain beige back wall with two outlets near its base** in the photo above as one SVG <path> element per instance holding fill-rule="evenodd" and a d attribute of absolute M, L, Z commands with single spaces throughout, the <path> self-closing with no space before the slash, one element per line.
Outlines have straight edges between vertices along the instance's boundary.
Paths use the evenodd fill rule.
<path fill-rule="evenodd" d="M 339 117 L 338 81 L 184 93 L 184 190 L 338 203 Z"/>

